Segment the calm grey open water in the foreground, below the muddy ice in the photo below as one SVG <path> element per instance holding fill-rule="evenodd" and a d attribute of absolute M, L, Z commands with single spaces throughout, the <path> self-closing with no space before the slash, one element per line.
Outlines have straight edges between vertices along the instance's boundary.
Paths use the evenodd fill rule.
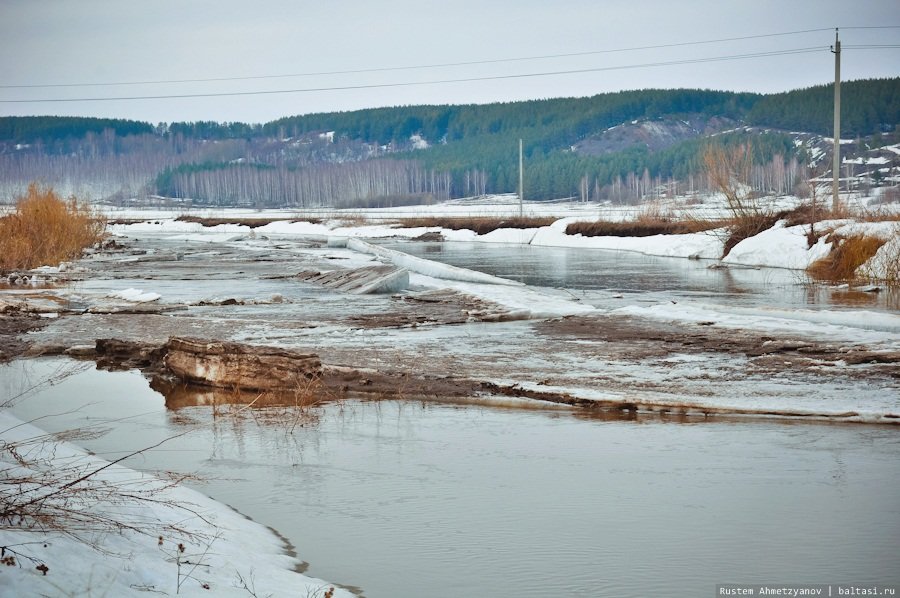
<path fill-rule="evenodd" d="M 0 367 L 9 396 L 66 361 Z M 369 598 L 713 596 L 717 583 L 897 583 L 896 427 L 593 420 L 416 401 L 167 409 L 85 369 L 16 407 L 109 432 L 107 458 L 198 472 L 309 573 Z"/>

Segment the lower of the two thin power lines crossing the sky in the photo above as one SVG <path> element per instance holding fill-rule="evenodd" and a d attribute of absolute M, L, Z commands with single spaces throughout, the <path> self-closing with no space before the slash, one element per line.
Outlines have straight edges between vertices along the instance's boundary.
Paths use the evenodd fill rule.
<path fill-rule="evenodd" d="M 792 50 L 773 50 L 770 52 L 757 52 L 753 54 L 734 54 L 730 56 L 714 56 L 708 58 L 691 58 L 686 60 L 670 60 L 664 62 L 647 62 L 643 64 L 631 64 L 621 66 L 605 66 L 587 69 L 572 69 L 564 71 L 547 71 L 540 73 L 523 73 L 515 75 L 493 75 L 486 77 L 464 77 L 460 79 L 440 79 L 434 81 L 404 81 L 397 83 L 371 83 L 361 85 L 342 85 L 334 87 L 309 87 L 302 89 L 272 89 L 258 91 L 232 91 L 220 93 L 187 93 L 187 94 L 168 94 L 168 95 L 142 95 L 142 96 L 117 96 L 117 97 L 89 97 L 89 98 L 40 98 L 30 100 L 0 100 L 3 104 L 30 104 L 39 102 L 109 102 L 109 101 L 130 101 L 130 100 L 168 100 L 168 99 L 184 99 L 184 98 L 217 98 L 232 96 L 253 96 L 253 95 L 274 95 L 288 93 L 312 93 L 321 91 L 346 91 L 356 89 L 378 89 L 386 87 L 411 87 L 416 85 L 440 85 L 446 83 L 469 83 L 476 81 L 497 81 L 504 79 L 525 79 L 533 77 L 549 77 L 555 75 L 575 75 L 583 73 L 597 73 L 603 71 L 618 71 L 648 67 L 662 66 L 678 66 L 684 64 L 698 64 L 705 62 L 723 62 L 729 60 L 745 60 L 751 58 L 765 58 L 769 56 L 786 56 L 790 54 L 809 54 L 811 52 L 821 52 L 828 50 L 828 46 L 815 46 L 809 48 L 795 48 Z"/>

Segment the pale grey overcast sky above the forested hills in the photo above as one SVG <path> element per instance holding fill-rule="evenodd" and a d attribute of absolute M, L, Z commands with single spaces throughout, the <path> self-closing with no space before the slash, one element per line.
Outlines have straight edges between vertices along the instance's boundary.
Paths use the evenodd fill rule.
<path fill-rule="evenodd" d="M 900 48 L 849 47 L 900 45 L 900 28 L 871 28 L 890 25 L 898 0 L 0 0 L 0 115 L 265 122 L 649 87 L 784 91 L 833 80 L 834 27 L 843 80 L 900 76 Z M 674 45 L 813 29 L 827 30 Z M 311 74 L 334 71 L 357 72 Z M 153 83 L 60 87 L 125 82 Z M 57 87 L 17 87 L 29 85 Z M 97 99 L 283 90 L 304 91 Z M 62 98 L 91 99 L 39 101 Z"/>

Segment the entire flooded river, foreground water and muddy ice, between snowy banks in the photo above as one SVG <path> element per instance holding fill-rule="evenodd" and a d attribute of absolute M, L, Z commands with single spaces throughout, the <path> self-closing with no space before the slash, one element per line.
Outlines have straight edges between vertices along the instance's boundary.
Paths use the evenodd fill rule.
<path fill-rule="evenodd" d="M 4 320 L 0 351 L 19 359 L 0 391 L 34 386 L 14 412 L 48 430 L 104 429 L 83 444 L 106 459 L 172 438 L 127 465 L 198 474 L 311 575 L 368 598 L 900 581 L 890 293 L 639 254 L 386 244 L 433 261 L 409 288 L 353 294 L 301 274 L 383 258 L 323 239 L 122 240 L 0 289 L 21 315 Z M 445 262 L 525 284 L 444 279 Z M 162 363 L 141 351 L 176 336 L 314 353 L 327 392 L 249 407 L 151 387 Z M 105 362 L 98 339 L 131 353 Z"/>

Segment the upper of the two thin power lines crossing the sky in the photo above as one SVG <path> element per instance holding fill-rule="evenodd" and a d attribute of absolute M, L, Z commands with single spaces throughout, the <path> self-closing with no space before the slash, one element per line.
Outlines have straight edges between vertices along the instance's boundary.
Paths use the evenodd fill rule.
<path fill-rule="evenodd" d="M 885 26 L 887 27 L 887 26 Z M 900 26 L 898 26 L 900 28 Z M 848 29 L 856 29 L 855 27 L 848 27 Z M 628 48 L 614 48 L 614 49 L 606 49 L 606 50 L 591 50 L 587 52 L 570 52 L 565 54 L 543 54 L 539 56 L 521 56 L 514 58 L 496 58 L 496 59 L 486 59 L 486 60 L 471 60 L 466 62 L 444 62 L 444 63 L 436 63 L 436 64 L 421 64 L 415 66 L 389 66 L 389 67 L 380 67 L 380 68 L 370 68 L 370 69 L 350 69 L 350 70 L 340 70 L 340 71 L 318 71 L 318 72 L 308 72 L 308 73 L 290 73 L 290 74 L 280 74 L 280 75 L 254 75 L 254 76 L 246 76 L 246 77 L 211 77 L 206 79 L 163 79 L 158 81 L 117 81 L 117 82 L 104 82 L 104 83 L 53 83 L 53 84 L 28 84 L 28 85 L 0 85 L 0 89 L 36 89 L 36 88 L 54 88 L 54 87 L 110 87 L 110 86 L 119 86 L 119 85 L 162 85 L 162 84 L 173 84 L 173 83 L 212 83 L 212 82 L 222 82 L 222 81 L 252 81 L 252 80 L 260 80 L 260 79 L 286 79 L 290 77 L 317 77 L 317 76 L 327 76 L 327 75 L 359 75 L 364 73 L 383 73 L 383 72 L 391 72 L 391 71 L 409 71 L 409 70 L 419 70 L 419 69 L 436 69 L 436 68 L 448 68 L 448 67 L 456 67 L 456 66 L 476 66 L 483 64 L 502 64 L 509 62 L 526 62 L 531 60 L 549 60 L 554 58 L 575 58 L 581 56 L 596 56 L 599 54 L 615 54 L 615 53 L 623 53 L 623 52 L 636 52 L 640 50 L 659 50 L 665 48 L 679 48 L 684 46 L 697 46 L 704 44 L 718 44 L 724 42 L 733 42 L 733 41 L 744 41 L 750 39 L 763 39 L 763 38 L 771 38 L 771 37 L 784 37 L 788 35 L 800 35 L 805 33 L 820 33 L 823 31 L 833 31 L 832 28 L 818 28 L 818 29 L 800 29 L 797 31 L 784 31 L 780 33 L 762 33 L 758 35 L 744 35 L 740 37 L 723 37 L 719 39 L 709 39 L 709 40 L 700 40 L 700 41 L 689 41 L 689 42 L 677 42 L 670 44 L 655 44 L 650 46 L 633 46 Z"/>

